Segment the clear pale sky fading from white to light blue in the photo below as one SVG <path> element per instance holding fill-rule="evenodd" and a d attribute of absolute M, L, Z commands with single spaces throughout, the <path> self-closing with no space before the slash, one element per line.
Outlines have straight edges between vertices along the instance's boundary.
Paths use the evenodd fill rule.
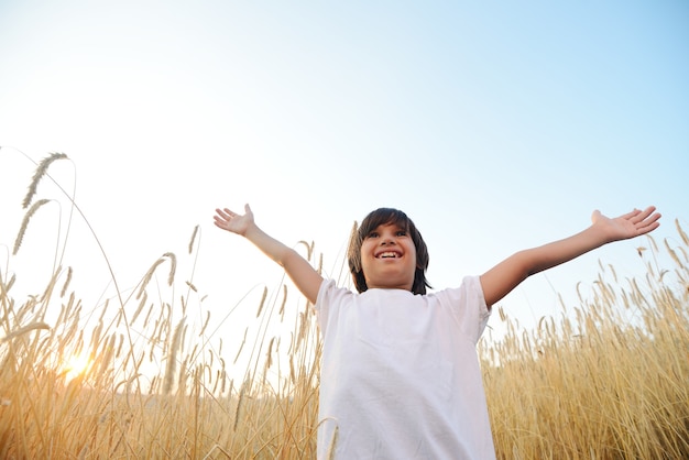
<path fill-rule="evenodd" d="M 285 243 L 315 241 L 333 276 L 353 221 L 401 208 L 428 243 L 435 287 L 579 231 L 595 208 L 656 205 L 656 234 L 674 238 L 675 218 L 689 227 L 688 45 L 680 0 L 2 0 L 0 243 L 12 248 L 34 168 L 14 149 L 72 158 L 51 172 L 69 190 L 76 173 L 121 288 L 175 252 L 179 281 L 195 270 L 218 320 L 280 281 L 212 226 L 219 206 L 250 202 Z M 28 292 L 45 286 L 58 209 L 35 217 L 9 265 L 0 251 Z M 75 222 L 66 264 L 95 306 L 111 286 Z M 524 322 L 557 314 L 556 293 L 590 285 L 599 259 L 644 274 L 645 243 L 534 276 L 502 305 Z"/>

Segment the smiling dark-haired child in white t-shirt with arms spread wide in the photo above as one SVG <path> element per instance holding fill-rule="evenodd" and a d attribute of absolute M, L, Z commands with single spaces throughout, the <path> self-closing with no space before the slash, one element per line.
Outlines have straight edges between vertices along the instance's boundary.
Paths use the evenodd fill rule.
<path fill-rule="evenodd" d="M 660 218 L 654 207 L 615 219 L 594 211 L 592 224 L 575 236 L 426 294 L 420 232 L 404 212 L 381 208 L 352 236 L 348 259 L 359 292 L 352 293 L 324 281 L 244 209 L 217 209 L 215 223 L 282 265 L 314 304 L 324 340 L 318 457 L 348 460 L 494 458 L 475 354 L 491 306 L 528 276 L 648 233 Z"/>

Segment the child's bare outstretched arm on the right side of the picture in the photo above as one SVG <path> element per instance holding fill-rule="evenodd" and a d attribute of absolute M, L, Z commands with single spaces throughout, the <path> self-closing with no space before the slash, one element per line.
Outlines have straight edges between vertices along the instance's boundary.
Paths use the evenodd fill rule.
<path fill-rule="evenodd" d="M 655 210 L 653 206 L 643 211 L 634 209 L 615 219 L 610 219 L 595 210 L 591 216 L 592 224 L 586 230 L 564 240 L 511 255 L 481 275 L 485 303 L 490 308 L 535 273 L 571 261 L 603 244 L 655 230 L 660 224 L 658 222 L 660 215 Z"/>

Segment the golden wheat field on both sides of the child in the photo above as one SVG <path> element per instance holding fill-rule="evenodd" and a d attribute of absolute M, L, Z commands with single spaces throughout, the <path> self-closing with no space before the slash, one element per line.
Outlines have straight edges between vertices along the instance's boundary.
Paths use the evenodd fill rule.
<path fill-rule="evenodd" d="M 37 183 L 64 158 L 36 165 L 14 254 L 46 202 L 34 201 Z M 601 265 L 580 305 L 533 330 L 496 307 L 491 321 L 507 333 L 484 337 L 479 354 L 499 458 L 689 458 L 689 239 L 676 228 L 676 240 L 639 248 L 643 280 Z M 315 458 L 320 340 L 308 305 L 285 284 L 264 288 L 239 306 L 255 309 L 261 333 L 223 350 L 209 313 L 187 322 L 196 288 L 176 264 L 163 254 L 95 316 L 70 289 L 88 267 L 56 266 L 28 298 L 12 288 L 31 274 L 0 270 L 0 458 Z M 161 284 L 186 294 L 161 298 Z M 237 362 L 243 372 L 230 372 Z"/>

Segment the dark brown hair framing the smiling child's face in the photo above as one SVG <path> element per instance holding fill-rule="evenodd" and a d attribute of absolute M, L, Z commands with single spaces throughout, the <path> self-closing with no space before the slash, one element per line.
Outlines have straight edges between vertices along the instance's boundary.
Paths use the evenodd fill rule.
<path fill-rule="evenodd" d="M 352 229 L 352 233 L 349 240 L 349 249 L 347 251 L 347 259 L 349 262 L 349 271 L 352 274 L 354 281 L 354 287 L 360 293 L 363 293 L 369 288 L 367 286 L 365 277 L 363 276 L 363 270 L 361 269 L 361 244 L 363 240 L 379 226 L 393 223 L 405 229 L 412 237 L 412 241 L 416 247 L 416 271 L 414 272 L 414 283 L 412 284 L 412 292 L 414 294 L 426 294 L 426 287 L 431 287 L 426 280 L 426 269 L 428 269 L 428 248 L 426 242 L 422 238 L 422 233 L 416 229 L 416 226 L 398 209 L 393 208 L 379 208 L 370 212 L 361 222 L 361 226 Z"/>

